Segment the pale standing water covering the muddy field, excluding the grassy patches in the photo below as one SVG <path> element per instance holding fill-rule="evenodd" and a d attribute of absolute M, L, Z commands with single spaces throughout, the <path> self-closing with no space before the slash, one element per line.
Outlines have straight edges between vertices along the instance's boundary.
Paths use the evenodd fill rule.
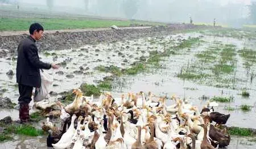
<path fill-rule="evenodd" d="M 166 48 L 166 44 L 163 42 L 168 42 L 170 45 L 177 44 L 182 39 L 187 39 L 191 37 L 199 37 L 200 33 L 183 33 L 178 35 L 158 37 L 158 38 L 146 38 L 138 39 L 135 41 L 125 41 L 125 42 L 115 42 L 112 44 L 99 44 L 99 45 L 86 45 L 81 49 L 68 49 L 68 50 L 56 50 L 50 51 L 50 56 L 46 56 L 40 53 L 40 57 L 46 62 L 67 62 L 67 65 L 61 67 L 59 70 L 48 70 L 47 73 L 53 75 L 55 78 L 52 87 L 52 91 L 62 92 L 71 90 L 72 88 L 79 87 L 81 83 L 86 82 L 89 84 L 95 84 L 96 80 L 102 80 L 104 76 L 111 74 L 100 73 L 94 70 L 95 67 L 104 66 L 118 66 L 121 68 L 130 67 L 130 64 L 138 61 L 141 56 L 148 56 L 150 51 L 158 50 L 163 51 Z M 154 41 L 155 40 L 155 44 Z M 188 62 L 193 63 L 197 61 L 195 57 L 196 53 L 200 53 L 207 49 L 213 42 L 220 41 L 222 44 L 233 44 L 236 45 L 236 50 L 242 49 L 246 45 L 247 48 L 255 49 L 256 45 L 254 40 L 246 39 L 234 39 L 232 37 L 216 37 L 216 36 L 204 36 L 201 40 L 207 41 L 200 43 L 199 46 L 193 46 L 189 50 L 181 50 L 181 54 L 171 55 L 170 57 L 163 58 L 161 61 L 162 69 L 150 69 L 150 73 L 141 73 L 135 76 L 122 76 L 114 82 L 113 95 L 121 96 L 123 92 L 154 92 L 156 95 L 167 95 L 168 97 L 172 95 L 177 95 L 180 97 L 186 97 L 189 103 L 197 105 L 201 109 L 206 101 L 199 100 L 202 96 L 233 96 L 234 100 L 232 103 L 221 103 L 219 107 L 215 108 L 216 111 L 221 113 L 230 113 L 227 125 L 228 126 L 238 126 L 238 127 L 251 127 L 256 129 L 254 125 L 256 122 L 255 117 L 255 102 L 254 98 L 256 95 L 256 84 L 245 83 L 244 80 L 247 79 L 246 69 L 243 67 L 243 59 L 237 54 L 237 69 L 236 69 L 236 88 L 234 90 L 229 88 L 216 88 L 212 86 L 207 86 L 207 84 L 195 83 L 189 80 L 182 80 L 177 78 L 177 73 L 180 72 L 181 67 L 187 66 Z M 162 43 L 162 44 L 161 44 Z M 167 45 L 167 46 L 170 46 Z M 82 55 L 81 55 L 82 54 Z M 15 75 L 13 78 L 9 78 L 6 72 L 10 69 L 14 70 L 15 73 L 15 61 L 0 59 L 1 73 L 0 73 L 0 86 L 6 88 L 7 91 L 3 93 L 3 96 L 10 97 L 10 99 L 17 103 L 18 99 L 18 88 L 15 87 Z M 80 69 L 82 66 L 83 69 Z M 81 74 L 73 73 L 76 70 L 82 70 Z M 251 72 L 255 72 L 256 67 L 251 67 Z M 64 74 L 56 74 L 57 71 L 63 71 Z M 67 78 L 66 75 L 73 74 L 73 78 Z M 226 75 L 225 77 L 229 77 Z M 208 80 L 209 81 L 209 80 Z M 241 93 L 241 88 L 247 87 L 247 91 L 250 92 L 250 96 L 245 99 L 238 93 Z M 192 89 L 192 90 L 191 90 Z M 54 98 L 54 97 L 53 97 Z M 173 101 L 168 100 L 168 104 Z M 32 104 L 32 103 L 31 103 Z M 241 104 L 253 105 L 249 112 L 242 112 L 238 109 Z M 233 111 L 225 110 L 226 107 L 237 108 Z M 18 118 L 18 110 L 11 109 L 1 109 L 0 119 L 11 115 L 11 117 Z M 36 148 L 46 148 L 46 138 L 29 138 L 28 141 L 23 141 L 22 139 L 16 139 L 14 142 L 6 142 L 0 144 L 1 147 L 6 148 L 17 148 L 19 144 L 21 147 L 28 148 L 34 147 L 34 144 L 40 144 Z M 42 141 L 42 142 L 41 142 Z M 28 143 L 30 142 L 30 143 Z M 30 144 L 30 146 L 26 146 Z M 41 146 L 42 145 L 42 146 Z M 232 137 L 232 142 L 228 148 L 256 148 L 255 142 L 248 142 L 246 138 Z"/>

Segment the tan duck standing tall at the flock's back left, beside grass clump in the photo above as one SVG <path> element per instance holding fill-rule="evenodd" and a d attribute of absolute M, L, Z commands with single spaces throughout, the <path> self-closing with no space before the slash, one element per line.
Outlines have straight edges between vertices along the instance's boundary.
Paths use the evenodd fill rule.
<path fill-rule="evenodd" d="M 76 114 L 79 112 L 80 105 L 82 104 L 82 91 L 80 89 L 73 90 L 73 93 L 76 94 L 73 103 L 65 107 L 66 112 L 69 114 Z"/>

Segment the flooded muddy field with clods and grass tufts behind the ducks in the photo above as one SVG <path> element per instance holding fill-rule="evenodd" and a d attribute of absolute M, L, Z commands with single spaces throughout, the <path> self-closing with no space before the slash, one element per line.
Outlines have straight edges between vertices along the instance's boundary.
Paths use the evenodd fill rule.
<path fill-rule="evenodd" d="M 141 34 L 136 29 L 129 32 L 104 31 L 102 36 L 97 31 L 46 35 L 39 42 L 40 49 L 44 49 L 40 57 L 46 62 L 61 64 L 59 70 L 47 71 L 55 78 L 50 101 L 61 97 L 58 93 L 80 87 L 82 83 L 97 85 L 106 76 L 113 76 L 113 71 L 99 69 L 101 67 L 116 66 L 122 70 L 133 67 L 134 62 L 147 61 L 142 73 L 123 74 L 113 79 L 109 90 L 114 96 L 139 91 L 151 91 L 167 97 L 175 94 L 199 109 L 206 104 L 205 99 L 220 98 L 220 105 L 215 110 L 231 114 L 228 126 L 256 129 L 256 42 L 250 32 L 226 32 L 225 29 L 197 29 L 188 33 L 171 33 L 171 30 L 161 28 L 152 32 L 146 30 Z M 68 42 L 60 40 L 65 35 L 68 35 Z M 78 39 L 71 41 L 73 36 Z M 9 49 L 9 52 L 5 50 L 6 53 L 2 50 L 0 58 L 0 93 L 13 103 L 17 103 L 18 87 L 15 83 L 15 51 L 10 51 L 23 37 L 25 35 L 0 37 L 1 43 L 8 43 L 0 47 Z M 9 70 L 13 70 L 14 75 L 6 75 Z M 171 103 L 169 100 L 168 104 Z M 243 108 L 245 106 L 249 108 Z M 1 108 L 0 112 L 0 119 L 6 116 L 18 119 L 15 108 Z M 40 122 L 35 125 L 40 127 Z M 46 148 L 46 137 L 18 135 L 14 141 L 0 144 L 0 148 L 15 147 Z M 256 148 L 255 138 L 233 136 L 228 148 Z"/>

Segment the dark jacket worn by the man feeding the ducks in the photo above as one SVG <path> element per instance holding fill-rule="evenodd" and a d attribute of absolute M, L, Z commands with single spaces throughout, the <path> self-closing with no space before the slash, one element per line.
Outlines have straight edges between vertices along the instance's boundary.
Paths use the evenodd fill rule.
<path fill-rule="evenodd" d="M 35 40 L 28 36 L 18 46 L 17 83 L 30 87 L 40 87 L 40 69 L 51 69 L 51 64 L 40 61 Z"/>

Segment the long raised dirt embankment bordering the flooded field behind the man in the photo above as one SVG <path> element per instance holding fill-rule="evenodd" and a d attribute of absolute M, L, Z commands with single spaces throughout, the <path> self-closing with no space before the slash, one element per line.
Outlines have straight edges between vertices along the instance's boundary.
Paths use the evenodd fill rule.
<path fill-rule="evenodd" d="M 205 25 L 170 24 L 166 27 L 130 27 L 121 29 L 75 29 L 46 31 L 42 40 L 37 42 L 39 50 L 57 50 L 79 48 L 85 44 L 97 42 L 114 42 L 141 37 L 168 35 L 172 31 L 183 29 L 210 28 Z M 1 32 L 0 32 L 1 34 Z M 0 36 L 0 57 L 15 54 L 20 40 L 28 35 L 24 32 L 5 32 Z"/>

